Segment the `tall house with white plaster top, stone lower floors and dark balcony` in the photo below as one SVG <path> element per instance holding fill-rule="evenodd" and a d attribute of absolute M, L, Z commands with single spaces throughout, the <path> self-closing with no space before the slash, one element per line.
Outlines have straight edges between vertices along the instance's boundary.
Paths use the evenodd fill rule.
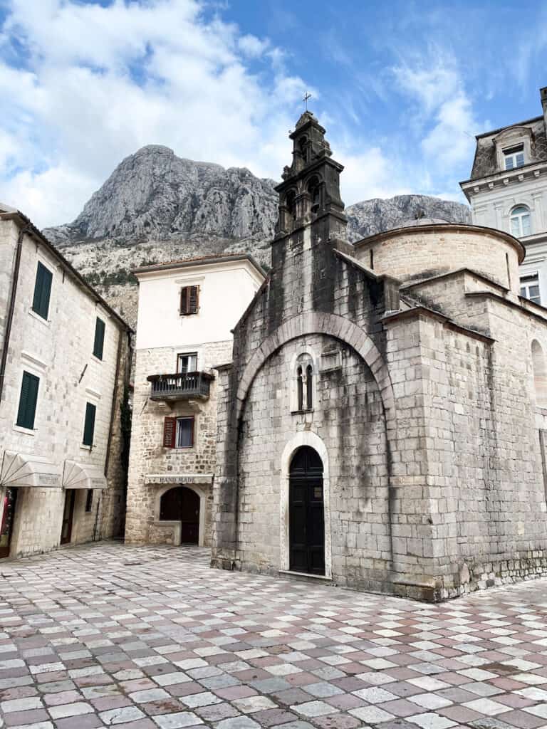
<path fill-rule="evenodd" d="M 125 539 L 209 545 L 215 367 L 264 281 L 247 254 L 137 269 L 139 315 Z"/>

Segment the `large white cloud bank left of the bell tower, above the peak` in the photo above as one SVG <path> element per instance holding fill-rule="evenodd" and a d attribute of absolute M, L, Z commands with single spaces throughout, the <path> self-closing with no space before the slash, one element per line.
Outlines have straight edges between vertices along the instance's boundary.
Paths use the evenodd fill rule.
<path fill-rule="evenodd" d="M 13 58 L 23 44 L 26 68 Z M 278 176 L 306 85 L 268 39 L 195 0 L 11 0 L 0 34 L 0 200 L 36 225 L 74 219 L 144 144 Z"/>

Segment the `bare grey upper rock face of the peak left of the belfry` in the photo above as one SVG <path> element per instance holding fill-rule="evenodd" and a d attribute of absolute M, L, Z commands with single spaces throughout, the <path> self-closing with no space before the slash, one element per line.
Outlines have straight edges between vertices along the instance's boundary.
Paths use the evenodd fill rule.
<path fill-rule="evenodd" d="M 106 238 L 113 245 L 192 235 L 269 238 L 276 205 L 272 180 L 150 145 L 117 166 L 74 222 L 44 233 L 58 246 Z"/>

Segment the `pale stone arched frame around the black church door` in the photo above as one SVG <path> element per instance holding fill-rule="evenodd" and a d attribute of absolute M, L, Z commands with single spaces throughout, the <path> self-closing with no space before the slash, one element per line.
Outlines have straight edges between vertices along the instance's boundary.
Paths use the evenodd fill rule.
<path fill-rule="evenodd" d="M 313 448 L 323 464 L 323 504 L 325 521 L 325 577 L 333 576 L 333 545 L 330 531 L 330 477 L 327 448 L 322 439 L 314 432 L 302 431 L 285 445 L 281 456 L 281 483 L 279 484 L 279 554 L 280 569 L 290 569 L 290 534 L 289 534 L 289 496 L 290 496 L 290 464 L 296 451 L 304 445 Z"/>

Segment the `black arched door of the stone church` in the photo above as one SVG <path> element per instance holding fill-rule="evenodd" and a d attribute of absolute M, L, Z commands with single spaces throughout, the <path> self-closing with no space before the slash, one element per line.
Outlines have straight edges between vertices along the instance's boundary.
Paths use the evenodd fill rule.
<path fill-rule="evenodd" d="M 290 462 L 289 569 L 325 574 L 323 464 L 309 445 L 298 448 Z"/>

